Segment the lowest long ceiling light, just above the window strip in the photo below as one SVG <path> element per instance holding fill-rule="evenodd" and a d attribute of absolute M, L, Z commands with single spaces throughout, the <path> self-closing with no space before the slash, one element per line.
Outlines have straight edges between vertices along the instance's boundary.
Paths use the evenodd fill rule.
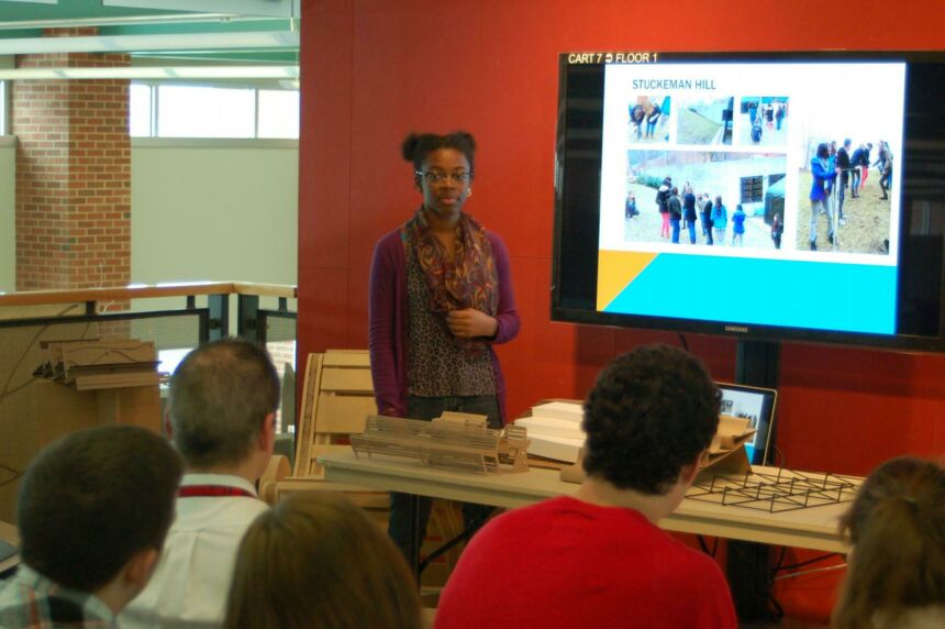
<path fill-rule="evenodd" d="M 297 79 L 299 66 L 138 66 L 121 68 L 21 68 L 0 80 L 54 79 Z"/>

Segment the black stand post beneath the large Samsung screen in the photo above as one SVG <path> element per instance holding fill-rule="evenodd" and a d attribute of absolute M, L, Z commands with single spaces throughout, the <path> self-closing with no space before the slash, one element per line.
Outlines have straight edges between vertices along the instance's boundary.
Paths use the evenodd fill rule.
<path fill-rule="evenodd" d="M 780 356 L 781 344 L 778 342 L 740 340 L 735 347 L 735 383 L 777 389 Z M 774 459 L 777 427 L 778 422 L 772 421 L 768 461 Z M 730 541 L 726 569 L 740 620 L 771 620 L 779 617 L 770 604 L 770 547 Z"/>

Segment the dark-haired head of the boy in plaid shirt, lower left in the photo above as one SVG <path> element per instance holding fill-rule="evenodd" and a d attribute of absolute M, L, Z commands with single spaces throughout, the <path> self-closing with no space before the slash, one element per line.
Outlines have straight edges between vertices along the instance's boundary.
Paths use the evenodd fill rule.
<path fill-rule="evenodd" d="M 102 598 L 118 611 L 151 577 L 180 475 L 170 444 L 143 428 L 110 426 L 59 439 L 20 484 L 23 563 L 73 589 L 108 589 Z"/>

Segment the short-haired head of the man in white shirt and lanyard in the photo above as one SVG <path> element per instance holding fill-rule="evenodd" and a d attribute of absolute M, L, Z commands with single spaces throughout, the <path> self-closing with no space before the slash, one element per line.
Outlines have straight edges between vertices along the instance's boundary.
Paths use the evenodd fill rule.
<path fill-rule="evenodd" d="M 279 375 L 265 349 L 237 339 L 203 344 L 170 378 L 174 443 L 194 471 L 265 468 L 279 407 Z"/>

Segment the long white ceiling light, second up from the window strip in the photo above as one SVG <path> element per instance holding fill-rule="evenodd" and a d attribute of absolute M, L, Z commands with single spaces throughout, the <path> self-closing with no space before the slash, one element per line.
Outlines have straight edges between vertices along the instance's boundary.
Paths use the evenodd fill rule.
<path fill-rule="evenodd" d="M 0 55 L 134 53 L 138 51 L 221 51 L 231 48 L 252 51 L 298 47 L 299 33 L 285 31 L 0 40 Z"/>

